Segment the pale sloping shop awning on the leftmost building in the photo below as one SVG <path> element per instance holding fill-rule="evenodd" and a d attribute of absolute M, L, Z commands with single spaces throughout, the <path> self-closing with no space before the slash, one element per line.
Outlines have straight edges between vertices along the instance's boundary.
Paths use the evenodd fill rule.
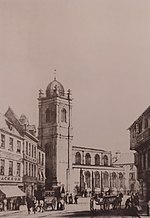
<path fill-rule="evenodd" d="M 0 186 L 0 190 L 6 195 L 6 198 L 25 196 L 18 186 Z"/>

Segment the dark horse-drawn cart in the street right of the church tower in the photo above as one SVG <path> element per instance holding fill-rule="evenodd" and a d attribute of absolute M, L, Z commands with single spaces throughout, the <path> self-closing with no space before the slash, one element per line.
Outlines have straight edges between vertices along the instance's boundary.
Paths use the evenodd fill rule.
<path fill-rule="evenodd" d="M 119 200 L 117 195 L 106 195 L 103 197 L 94 196 L 90 199 L 90 210 L 109 210 L 110 208 L 115 208 L 118 204 Z"/>

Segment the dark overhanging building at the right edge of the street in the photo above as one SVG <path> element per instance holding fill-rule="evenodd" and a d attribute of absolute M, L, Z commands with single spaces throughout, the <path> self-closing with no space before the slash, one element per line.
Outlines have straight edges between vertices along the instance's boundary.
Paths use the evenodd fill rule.
<path fill-rule="evenodd" d="M 150 200 L 150 107 L 129 127 L 130 149 L 136 151 L 135 165 L 140 198 Z"/>

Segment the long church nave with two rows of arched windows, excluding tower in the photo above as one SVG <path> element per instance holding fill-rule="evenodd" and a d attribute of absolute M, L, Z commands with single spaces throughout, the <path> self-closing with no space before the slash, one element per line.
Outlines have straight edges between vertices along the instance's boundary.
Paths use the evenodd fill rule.
<path fill-rule="evenodd" d="M 122 167 L 112 164 L 110 151 L 80 146 L 72 147 L 73 191 L 81 194 L 124 192 L 125 176 Z"/>

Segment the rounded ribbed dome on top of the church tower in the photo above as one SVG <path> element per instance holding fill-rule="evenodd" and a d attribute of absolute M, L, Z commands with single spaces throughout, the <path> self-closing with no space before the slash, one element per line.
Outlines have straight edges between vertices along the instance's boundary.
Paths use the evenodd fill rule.
<path fill-rule="evenodd" d="M 64 87 L 63 85 L 54 78 L 52 82 L 46 88 L 46 97 L 53 97 L 53 96 L 64 96 Z"/>

